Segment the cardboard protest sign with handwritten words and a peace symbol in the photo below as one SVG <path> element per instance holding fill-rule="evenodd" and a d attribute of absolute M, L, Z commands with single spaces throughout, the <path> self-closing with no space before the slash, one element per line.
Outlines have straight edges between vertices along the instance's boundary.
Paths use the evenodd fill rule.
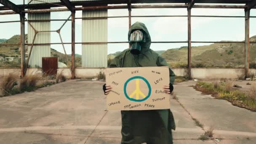
<path fill-rule="evenodd" d="M 169 109 L 168 67 L 106 68 L 106 83 L 112 90 L 107 95 L 109 110 Z"/>

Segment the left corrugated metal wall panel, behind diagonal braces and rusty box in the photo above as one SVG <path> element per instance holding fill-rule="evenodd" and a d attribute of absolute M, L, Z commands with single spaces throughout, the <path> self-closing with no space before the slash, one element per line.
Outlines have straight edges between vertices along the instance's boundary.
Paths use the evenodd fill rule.
<path fill-rule="evenodd" d="M 29 13 L 28 20 L 48 20 L 51 19 L 51 13 Z M 37 31 L 48 31 L 51 30 L 51 22 L 31 22 L 32 26 Z M 32 43 L 33 37 L 35 35 L 34 30 L 28 24 L 28 43 Z M 43 32 L 37 33 L 35 38 L 35 43 L 51 43 L 51 33 Z M 28 47 L 28 52 L 30 51 L 30 46 Z M 37 45 L 33 46 L 32 53 L 29 59 L 30 67 L 35 67 L 36 65 L 42 67 L 42 57 L 51 56 L 51 45 Z"/>

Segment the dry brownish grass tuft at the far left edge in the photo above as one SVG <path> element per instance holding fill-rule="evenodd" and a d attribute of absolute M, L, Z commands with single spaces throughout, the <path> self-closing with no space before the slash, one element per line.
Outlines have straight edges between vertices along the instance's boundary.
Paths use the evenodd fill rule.
<path fill-rule="evenodd" d="M 18 93 L 18 90 L 14 88 L 17 85 L 17 76 L 14 74 L 9 74 L 6 77 L 3 77 L 3 81 L 1 83 L 1 89 L 4 96 L 13 95 Z"/>

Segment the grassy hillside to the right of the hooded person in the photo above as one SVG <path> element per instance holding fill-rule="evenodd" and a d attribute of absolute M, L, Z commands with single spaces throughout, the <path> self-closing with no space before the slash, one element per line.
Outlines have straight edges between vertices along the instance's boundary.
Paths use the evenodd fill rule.
<path fill-rule="evenodd" d="M 256 36 L 250 41 L 256 42 Z M 187 47 L 168 49 L 162 56 L 171 67 L 187 67 Z M 213 43 L 192 47 L 192 67 L 244 67 L 244 44 Z M 256 67 L 256 44 L 250 44 L 250 67 Z"/>

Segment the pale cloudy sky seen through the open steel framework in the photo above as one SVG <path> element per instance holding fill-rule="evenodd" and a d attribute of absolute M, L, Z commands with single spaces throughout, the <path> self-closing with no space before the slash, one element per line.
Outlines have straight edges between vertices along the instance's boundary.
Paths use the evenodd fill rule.
<path fill-rule="evenodd" d="M 23 0 L 11 0 L 15 4 L 21 4 Z M 67 19 L 70 15 L 66 12 L 52 12 L 51 19 Z M 132 9 L 132 16 L 149 15 L 187 15 L 186 8 L 147 8 Z M 192 8 L 191 15 L 210 16 L 244 16 L 243 9 L 213 9 L 213 8 Z M 108 16 L 128 16 L 127 9 L 108 10 Z M 256 9 L 251 10 L 251 16 L 256 16 Z M 26 15 L 27 17 L 27 15 Z M 76 17 L 82 17 L 82 11 L 76 12 Z M 0 21 L 19 21 L 19 15 L 0 15 Z M 143 22 L 151 35 L 152 41 L 187 41 L 187 17 L 152 17 L 152 18 L 131 18 L 132 24 L 136 21 Z M 52 21 L 51 30 L 61 27 L 64 21 Z M 221 41 L 232 40 L 242 41 L 245 37 L 244 18 L 191 18 L 191 39 L 192 41 Z M 81 42 L 82 20 L 76 19 L 75 41 Z M 27 23 L 25 26 L 27 33 Z M 0 38 L 11 38 L 20 34 L 20 24 L 0 23 Z M 108 19 L 108 41 L 128 41 L 128 18 Z M 250 37 L 256 35 L 256 18 L 250 19 Z M 71 21 L 61 29 L 61 36 L 64 42 L 71 42 Z M 51 32 L 51 43 L 60 43 L 57 33 Z M 192 43 L 192 46 L 209 45 L 209 43 Z M 187 46 L 187 43 L 152 43 L 151 48 L 155 51 L 167 50 Z M 61 45 L 51 45 L 51 48 L 64 53 Z M 65 45 L 68 54 L 71 53 L 71 45 Z M 123 51 L 128 48 L 128 43 L 108 44 L 108 53 Z M 81 44 L 76 44 L 76 53 L 81 54 Z"/>

